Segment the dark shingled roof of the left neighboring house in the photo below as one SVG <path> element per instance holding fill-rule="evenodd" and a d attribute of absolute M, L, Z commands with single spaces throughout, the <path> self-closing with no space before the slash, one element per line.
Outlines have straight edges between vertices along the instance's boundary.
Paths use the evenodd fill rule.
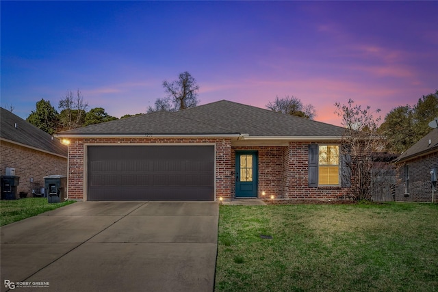
<path fill-rule="evenodd" d="M 67 157 L 67 146 L 33 124 L 0 107 L 1 140 Z"/>

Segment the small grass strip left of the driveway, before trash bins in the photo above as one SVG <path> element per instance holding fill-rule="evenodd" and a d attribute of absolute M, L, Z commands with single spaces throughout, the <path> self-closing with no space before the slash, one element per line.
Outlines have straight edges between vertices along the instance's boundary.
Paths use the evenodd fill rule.
<path fill-rule="evenodd" d="M 47 202 L 47 198 L 24 198 L 20 200 L 0 201 L 0 226 L 23 220 L 46 211 L 72 204 L 75 201 L 62 203 Z"/>

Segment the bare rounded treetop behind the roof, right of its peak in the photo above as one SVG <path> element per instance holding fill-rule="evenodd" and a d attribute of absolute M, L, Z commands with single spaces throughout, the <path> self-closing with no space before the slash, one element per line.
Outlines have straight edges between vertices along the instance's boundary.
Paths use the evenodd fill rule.
<path fill-rule="evenodd" d="M 266 107 L 272 111 L 308 118 L 310 120 L 313 120 L 316 116 L 315 107 L 313 107 L 313 105 L 303 105 L 300 99 L 295 96 L 287 95 L 283 98 L 277 95 L 275 101 L 270 101 Z"/>

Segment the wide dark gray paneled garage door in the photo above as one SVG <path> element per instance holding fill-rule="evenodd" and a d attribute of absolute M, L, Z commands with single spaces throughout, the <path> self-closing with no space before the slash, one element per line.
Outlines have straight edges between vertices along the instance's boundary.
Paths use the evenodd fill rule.
<path fill-rule="evenodd" d="M 88 146 L 88 200 L 214 200 L 214 146 Z"/>

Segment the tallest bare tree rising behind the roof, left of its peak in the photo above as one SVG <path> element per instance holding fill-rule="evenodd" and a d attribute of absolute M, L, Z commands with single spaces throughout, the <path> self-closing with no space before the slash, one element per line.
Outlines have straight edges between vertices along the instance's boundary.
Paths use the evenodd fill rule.
<path fill-rule="evenodd" d="M 154 111 L 179 111 L 198 105 L 199 85 L 189 72 L 182 72 L 172 82 L 163 81 L 166 98 L 157 98 L 155 107 L 149 107 L 148 113 Z"/>

